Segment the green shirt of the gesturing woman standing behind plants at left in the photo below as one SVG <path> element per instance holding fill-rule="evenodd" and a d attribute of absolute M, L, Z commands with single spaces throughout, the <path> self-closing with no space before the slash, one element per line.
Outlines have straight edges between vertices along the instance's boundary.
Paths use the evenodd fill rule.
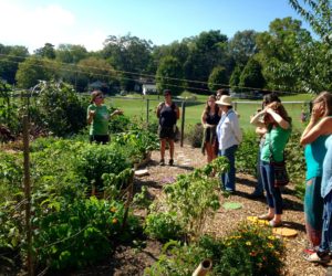
<path fill-rule="evenodd" d="M 90 110 L 95 110 L 90 127 L 90 135 L 108 135 L 110 113 L 105 105 L 90 105 L 87 107 L 87 116 Z"/>

